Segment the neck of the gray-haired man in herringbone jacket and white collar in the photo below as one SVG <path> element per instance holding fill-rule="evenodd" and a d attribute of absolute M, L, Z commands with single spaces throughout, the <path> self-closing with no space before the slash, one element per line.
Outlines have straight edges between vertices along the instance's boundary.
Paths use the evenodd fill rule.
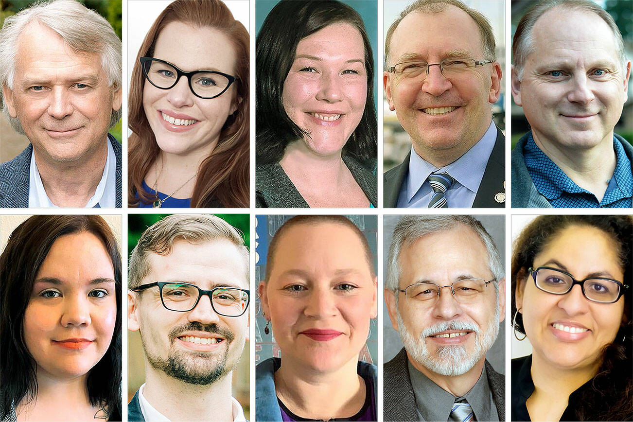
<path fill-rule="evenodd" d="M 107 142 L 110 142 L 109 140 Z M 59 207 L 83 208 L 103 177 L 108 144 L 89 151 L 78 160 L 61 163 L 33 149 L 42 185 L 51 202 Z"/>

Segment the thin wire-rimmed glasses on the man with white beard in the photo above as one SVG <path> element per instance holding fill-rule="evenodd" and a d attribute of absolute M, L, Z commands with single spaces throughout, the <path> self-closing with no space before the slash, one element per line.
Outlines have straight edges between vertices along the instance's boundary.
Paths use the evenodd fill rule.
<path fill-rule="evenodd" d="M 406 300 L 413 306 L 433 306 L 444 287 L 449 287 L 453 297 L 461 304 L 477 302 L 486 294 L 486 286 L 495 280 L 486 281 L 483 278 L 464 278 L 457 280 L 448 286 L 439 286 L 435 283 L 415 283 L 398 289 L 404 293 Z"/>

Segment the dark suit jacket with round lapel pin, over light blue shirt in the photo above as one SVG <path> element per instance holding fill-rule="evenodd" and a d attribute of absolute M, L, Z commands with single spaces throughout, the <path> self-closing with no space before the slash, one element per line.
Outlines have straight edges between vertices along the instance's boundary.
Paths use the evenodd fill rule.
<path fill-rule="evenodd" d="M 484 177 L 481 179 L 479 190 L 475 195 L 472 208 L 505 208 L 505 202 L 497 202 L 494 197 L 499 192 L 505 192 L 504 182 L 506 178 L 505 164 L 505 142 L 506 137 L 497 128 L 497 140 L 494 142 L 490 159 L 484 170 Z M 398 206 L 398 195 L 404 182 L 404 178 L 409 171 L 409 159 L 411 152 L 398 166 L 385 173 L 384 197 L 385 208 L 396 208 Z"/>

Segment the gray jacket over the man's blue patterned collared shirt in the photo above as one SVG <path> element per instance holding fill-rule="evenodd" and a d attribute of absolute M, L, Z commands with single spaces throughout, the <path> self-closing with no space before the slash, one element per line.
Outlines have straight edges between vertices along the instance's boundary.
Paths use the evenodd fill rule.
<path fill-rule="evenodd" d="M 523 159 L 523 148 L 525 144 L 527 144 L 527 136 L 529 133 L 530 132 L 525 133 L 525 135 L 518 140 L 517 145 L 511 153 L 511 206 L 512 208 L 553 208 L 548 199 L 536 190 L 536 186 L 534 186 L 534 182 L 532 182 L 532 177 L 530 177 L 530 173 L 527 171 L 525 159 Z M 624 152 L 631 162 L 631 171 L 633 171 L 633 146 L 620 135 L 615 135 L 615 138 L 622 142 Z"/>

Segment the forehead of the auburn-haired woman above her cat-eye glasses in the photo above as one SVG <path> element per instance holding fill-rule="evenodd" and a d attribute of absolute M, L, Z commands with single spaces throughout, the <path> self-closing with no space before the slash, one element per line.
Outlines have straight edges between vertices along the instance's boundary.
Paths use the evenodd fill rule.
<path fill-rule="evenodd" d="M 234 74 L 237 62 L 234 44 L 226 34 L 184 22 L 170 22 L 161 30 L 153 56 L 184 71 L 217 70 Z"/>

